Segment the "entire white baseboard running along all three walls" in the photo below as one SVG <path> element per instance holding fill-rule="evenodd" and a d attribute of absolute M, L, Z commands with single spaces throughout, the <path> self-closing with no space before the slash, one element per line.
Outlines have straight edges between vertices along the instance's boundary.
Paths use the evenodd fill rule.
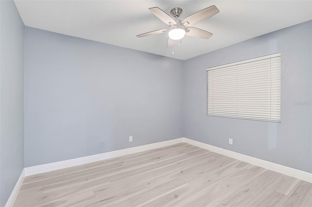
<path fill-rule="evenodd" d="M 11 196 L 9 197 L 5 207 L 12 207 L 13 206 L 15 199 L 18 196 L 20 187 L 23 183 L 25 176 L 39 174 L 42 172 L 49 172 L 49 171 L 57 170 L 57 169 L 69 168 L 69 167 L 73 167 L 73 166 L 77 166 L 77 165 L 82 165 L 82 164 L 87 164 L 87 163 L 96 162 L 96 161 L 100 161 L 100 160 L 110 159 L 110 158 L 123 156 L 123 155 L 131 154 L 131 153 L 136 153 L 136 152 L 140 152 L 140 151 L 152 150 L 155 148 L 165 147 L 168 145 L 174 145 L 174 144 L 178 144 L 181 142 L 185 142 L 185 143 L 188 143 L 188 144 L 191 144 L 191 145 L 194 145 L 194 146 L 197 146 L 197 147 L 209 150 L 209 151 L 214 151 L 216 153 L 223 154 L 223 155 L 226 155 L 228 157 L 232 157 L 232 158 L 237 159 L 237 160 L 241 160 L 241 161 L 244 161 L 244 162 L 265 168 L 265 169 L 270 169 L 270 170 L 273 170 L 273 171 L 276 171 L 276 172 L 279 172 L 279 173 L 282 173 L 285 175 L 289 175 L 289 176 L 292 176 L 294 178 L 312 183 L 312 173 L 305 172 L 305 171 L 302 171 L 299 169 L 289 168 L 289 167 L 286 167 L 283 165 L 279 165 L 276 163 L 261 160 L 261 159 L 254 158 L 254 157 L 251 157 L 248 155 L 240 154 L 240 153 L 237 153 L 234 151 L 225 150 L 225 149 L 218 148 L 218 147 L 215 147 L 215 146 L 212 146 L 209 144 L 205 144 L 202 142 L 198 142 L 198 141 L 195 141 L 192 139 L 182 137 L 182 138 L 172 139 L 172 140 L 168 140 L 168 141 L 157 142 L 157 143 L 142 145 L 142 146 L 133 147 L 133 148 L 127 148 L 127 149 L 123 149 L 123 150 L 110 151 L 110 152 L 95 154 L 95 155 L 86 156 L 86 157 L 79 157 L 76 159 L 64 160 L 64 161 L 60 161 L 60 162 L 48 163 L 48 164 L 44 164 L 44 165 L 38 165 L 38 166 L 24 168 L 20 174 L 20 178 L 17 181 L 15 188 L 13 189 Z"/>

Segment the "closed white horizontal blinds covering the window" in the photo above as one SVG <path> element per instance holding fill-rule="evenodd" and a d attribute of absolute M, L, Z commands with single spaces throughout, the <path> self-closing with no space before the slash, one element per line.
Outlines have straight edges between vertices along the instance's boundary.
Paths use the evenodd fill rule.
<path fill-rule="evenodd" d="M 280 53 L 208 68 L 207 83 L 207 115 L 280 122 Z"/>

